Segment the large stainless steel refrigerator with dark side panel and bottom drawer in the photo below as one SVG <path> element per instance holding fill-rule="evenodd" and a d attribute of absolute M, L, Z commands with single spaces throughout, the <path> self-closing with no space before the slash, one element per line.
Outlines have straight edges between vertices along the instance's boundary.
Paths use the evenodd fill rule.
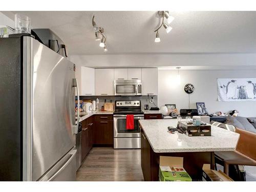
<path fill-rule="evenodd" d="M 76 180 L 76 89 L 67 58 L 31 36 L 0 38 L 0 180 Z"/>

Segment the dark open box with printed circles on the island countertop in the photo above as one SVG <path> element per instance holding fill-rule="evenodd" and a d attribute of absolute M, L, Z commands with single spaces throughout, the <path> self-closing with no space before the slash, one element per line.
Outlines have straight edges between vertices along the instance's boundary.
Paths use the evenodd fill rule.
<path fill-rule="evenodd" d="M 211 136 L 211 125 L 187 124 L 186 121 L 179 122 L 181 129 L 186 131 L 187 136 Z"/>

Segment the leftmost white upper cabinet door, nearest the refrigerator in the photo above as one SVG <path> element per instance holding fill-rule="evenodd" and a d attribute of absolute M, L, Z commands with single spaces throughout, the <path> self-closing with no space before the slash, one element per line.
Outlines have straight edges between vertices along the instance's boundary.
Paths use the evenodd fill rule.
<path fill-rule="evenodd" d="M 81 67 L 81 95 L 95 95 L 95 69 Z"/>

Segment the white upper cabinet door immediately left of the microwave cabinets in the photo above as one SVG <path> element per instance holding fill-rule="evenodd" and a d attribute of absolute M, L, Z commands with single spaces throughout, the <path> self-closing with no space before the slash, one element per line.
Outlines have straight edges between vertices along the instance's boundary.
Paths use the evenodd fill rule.
<path fill-rule="evenodd" d="M 95 95 L 114 95 L 114 69 L 95 69 Z"/>

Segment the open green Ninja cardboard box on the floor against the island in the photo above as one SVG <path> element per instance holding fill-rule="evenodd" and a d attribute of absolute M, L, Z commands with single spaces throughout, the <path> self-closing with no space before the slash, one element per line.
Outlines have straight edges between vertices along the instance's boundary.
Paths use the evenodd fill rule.
<path fill-rule="evenodd" d="M 159 181 L 192 181 L 183 168 L 183 157 L 160 156 Z"/>

